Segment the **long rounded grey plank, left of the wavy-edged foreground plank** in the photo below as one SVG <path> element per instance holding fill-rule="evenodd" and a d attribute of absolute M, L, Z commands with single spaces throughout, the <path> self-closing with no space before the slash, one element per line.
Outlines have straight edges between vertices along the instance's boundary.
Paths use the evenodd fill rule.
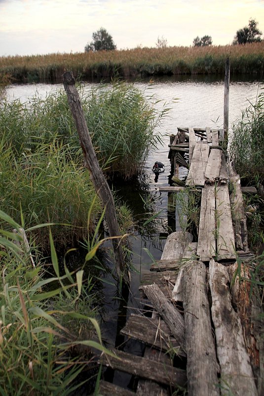
<path fill-rule="evenodd" d="M 205 264 L 191 262 L 182 285 L 189 396 L 220 395 L 206 283 Z"/>

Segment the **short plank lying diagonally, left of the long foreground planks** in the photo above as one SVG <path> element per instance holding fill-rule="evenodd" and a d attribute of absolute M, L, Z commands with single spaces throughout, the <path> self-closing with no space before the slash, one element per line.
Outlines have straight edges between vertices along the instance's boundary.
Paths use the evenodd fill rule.
<path fill-rule="evenodd" d="M 144 293 L 153 304 L 156 311 L 169 326 L 174 338 L 185 351 L 185 327 L 181 313 L 166 299 L 159 287 L 153 285 L 142 286 Z"/>

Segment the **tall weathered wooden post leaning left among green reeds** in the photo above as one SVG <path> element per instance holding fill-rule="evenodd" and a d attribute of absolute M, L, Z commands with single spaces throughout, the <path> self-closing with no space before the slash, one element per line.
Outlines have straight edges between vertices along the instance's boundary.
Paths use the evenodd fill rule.
<path fill-rule="evenodd" d="M 106 220 L 109 228 L 110 237 L 112 237 L 113 252 L 117 274 L 120 277 L 121 272 L 124 273 L 125 263 L 122 253 L 122 246 L 118 238 L 119 229 L 116 218 L 115 206 L 113 195 L 108 182 L 99 166 L 92 140 L 89 135 L 87 124 L 85 122 L 83 109 L 81 107 L 79 95 L 75 88 L 75 78 L 72 72 L 66 72 L 62 76 L 63 85 L 68 96 L 68 102 L 75 119 L 77 132 L 79 134 L 80 145 L 84 157 L 84 166 L 89 169 L 90 177 L 93 182 L 94 188 L 100 197 L 105 210 Z"/>

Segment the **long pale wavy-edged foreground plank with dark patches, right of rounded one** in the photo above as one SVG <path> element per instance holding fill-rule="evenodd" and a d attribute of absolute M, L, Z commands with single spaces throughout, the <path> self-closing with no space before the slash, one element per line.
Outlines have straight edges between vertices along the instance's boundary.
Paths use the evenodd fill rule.
<path fill-rule="evenodd" d="M 217 355 L 221 367 L 221 395 L 257 396 L 241 322 L 231 304 L 227 268 L 210 261 L 212 319 L 215 326 Z"/>

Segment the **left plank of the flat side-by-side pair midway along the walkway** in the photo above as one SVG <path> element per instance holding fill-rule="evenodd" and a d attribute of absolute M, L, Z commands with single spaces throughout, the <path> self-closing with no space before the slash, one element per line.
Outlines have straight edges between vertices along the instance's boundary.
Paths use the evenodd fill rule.
<path fill-rule="evenodd" d="M 202 190 L 197 256 L 210 261 L 216 255 L 215 186 L 205 185 Z"/>

